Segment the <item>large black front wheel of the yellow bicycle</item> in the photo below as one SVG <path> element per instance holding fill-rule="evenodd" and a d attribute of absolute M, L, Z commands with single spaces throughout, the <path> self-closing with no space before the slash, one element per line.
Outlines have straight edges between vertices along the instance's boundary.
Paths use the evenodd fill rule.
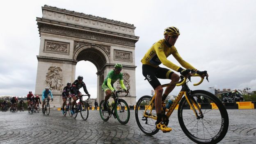
<path fill-rule="evenodd" d="M 219 98 L 208 91 L 192 91 L 190 95 L 192 101 L 194 101 L 197 97 L 204 101 L 204 103 L 200 103 L 203 118 L 197 119 L 197 117 L 194 116 L 193 110 L 184 109 L 188 103 L 186 98 L 183 97 L 178 107 L 178 121 L 181 129 L 193 142 L 200 144 L 216 144 L 225 137 L 229 128 L 229 116 L 226 108 Z M 210 102 L 213 102 L 214 104 L 211 104 Z M 208 106 L 203 107 L 203 105 Z M 210 107 L 210 105 L 214 105 L 214 107 Z M 190 112 L 191 114 L 186 114 L 186 112 Z M 191 115 L 194 117 L 191 117 Z M 192 122 L 189 122 L 190 120 Z M 196 132 L 194 132 L 194 128 L 197 130 Z M 199 130 L 199 128 L 202 128 L 203 130 Z"/>

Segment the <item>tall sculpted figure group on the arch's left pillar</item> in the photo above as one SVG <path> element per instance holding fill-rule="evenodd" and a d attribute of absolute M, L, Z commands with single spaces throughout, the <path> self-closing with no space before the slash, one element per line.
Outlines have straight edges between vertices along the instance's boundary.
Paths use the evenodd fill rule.
<path fill-rule="evenodd" d="M 53 91 L 62 90 L 62 69 L 56 66 L 50 66 L 46 73 L 46 85 Z"/>

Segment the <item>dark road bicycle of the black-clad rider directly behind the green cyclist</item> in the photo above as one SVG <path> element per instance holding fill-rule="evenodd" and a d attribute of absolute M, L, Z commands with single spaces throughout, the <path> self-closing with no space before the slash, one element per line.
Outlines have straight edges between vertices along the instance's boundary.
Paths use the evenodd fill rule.
<path fill-rule="evenodd" d="M 89 100 L 89 96 L 87 101 L 82 101 L 83 96 L 88 96 L 88 95 L 81 95 L 81 96 L 76 95 L 76 98 L 77 100 L 79 99 L 79 102 L 75 103 L 74 105 L 73 110 L 75 113 L 72 114 L 72 117 L 75 119 L 77 117 L 78 112 L 80 112 L 82 119 L 86 121 L 89 115 L 89 109 L 88 109 L 89 104 L 87 103 L 87 101 Z"/>

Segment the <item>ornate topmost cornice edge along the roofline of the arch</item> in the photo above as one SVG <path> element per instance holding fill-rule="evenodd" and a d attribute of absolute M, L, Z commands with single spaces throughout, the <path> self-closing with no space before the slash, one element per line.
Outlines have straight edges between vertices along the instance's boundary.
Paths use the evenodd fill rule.
<path fill-rule="evenodd" d="M 107 18 L 99 17 L 99 16 L 93 16 L 91 14 L 88 15 L 88 14 L 84 14 L 84 13 L 81 13 L 81 12 L 70 11 L 70 10 L 67 10 L 67 9 L 61 9 L 61 8 L 58 8 L 58 7 L 44 5 L 42 7 L 42 10 L 43 9 L 50 9 L 50 10 L 55 10 L 55 11 L 58 11 L 58 12 L 65 12 L 65 13 L 69 13 L 69 14 L 84 16 L 84 17 L 87 17 L 87 18 L 93 18 L 93 19 L 97 19 L 97 20 L 101 20 L 101 21 L 108 21 L 108 22 L 111 22 L 111 23 L 116 23 L 116 24 L 119 24 L 119 25 L 126 25 L 126 26 L 129 26 L 129 27 L 136 28 L 136 27 L 134 27 L 133 24 L 123 23 L 121 21 L 110 20 L 110 19 L 107 19 Z"/>

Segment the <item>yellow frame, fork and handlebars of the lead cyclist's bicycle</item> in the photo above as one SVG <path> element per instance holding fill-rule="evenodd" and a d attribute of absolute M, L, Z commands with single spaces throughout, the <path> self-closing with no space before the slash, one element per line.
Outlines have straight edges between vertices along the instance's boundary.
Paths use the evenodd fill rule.
<path fill-rule="evenodd" d="M 194 74 L 194 75 L 192 75 L 192 76 L 201 77 L 201 76 L 198 75 L 198 74 Z M 204 79 L 204 78 L 201 77 L 200 82 L 198 82 L 197 84 L 194 84 L 194 86 L 200 85 L 200 84 L 203 82 L 203 79 Z M 174 102 L 171 104 L 169 110 L 168 110 L 167 113 L 166 113 L 166 116 L 168 117 L 168 119 L 169 119 L 169 117 L 171 116 L 172 112 L 174 111 L 175 107 L 177 106 L 178 102 L 181 101 L 181 98 L 183 97 L 183 95 L 185 95 L 185 98 L 187 99 L 188 104 L 190 105 L 190 107 L 192 107 L 195 116 L 196 116 L 197 118 L 199 117 L 198 114 L 197 114 L 196 109 L 199 110 L 200 116 L 202 115 L 202 111 L 201 111 L 201 108 L 199 107 L 199 105 L 198 105 L 194 100 L 191 101 L 191 99 L 188 98 L 188 97 L 190 96 L 190 89 L 188 88 L 187 84 L 185 83 L 186 80 L 187 80 L 187 78 L 184 78 L 184 80 L 182 80 L 181 83 L 168 83 L 168 84 L 162 85 L 162 87 L 168 87 L 168 86 L 170 86 L 170 85 L 182 86 L 181 91 L 179 92 L 178 96 L 175 98 Z M 153 96 L 152 99 L 151 99 L 151 102 L 149 103 L 149 105 L 152 105 L 150 113 L 151 113 L 152 110 L 153 110 L 154 101 L 155 101 L 155 96 L 156 96 L 156 93 L 154 94 L 154 96 Z M 195 104 L 196 107 L 194 107 L 194 104 Z M 156 116 L 154 116 L 154 115 L 151 116 L 151 115 L 146 114 L 146 110 L 148 110 L 148 109 L 149 109 L 149 107 L 145 107 L 144 117 L 148 117 L 148 118 L 157 120 L 157 117 L 156 117 Z"/>

